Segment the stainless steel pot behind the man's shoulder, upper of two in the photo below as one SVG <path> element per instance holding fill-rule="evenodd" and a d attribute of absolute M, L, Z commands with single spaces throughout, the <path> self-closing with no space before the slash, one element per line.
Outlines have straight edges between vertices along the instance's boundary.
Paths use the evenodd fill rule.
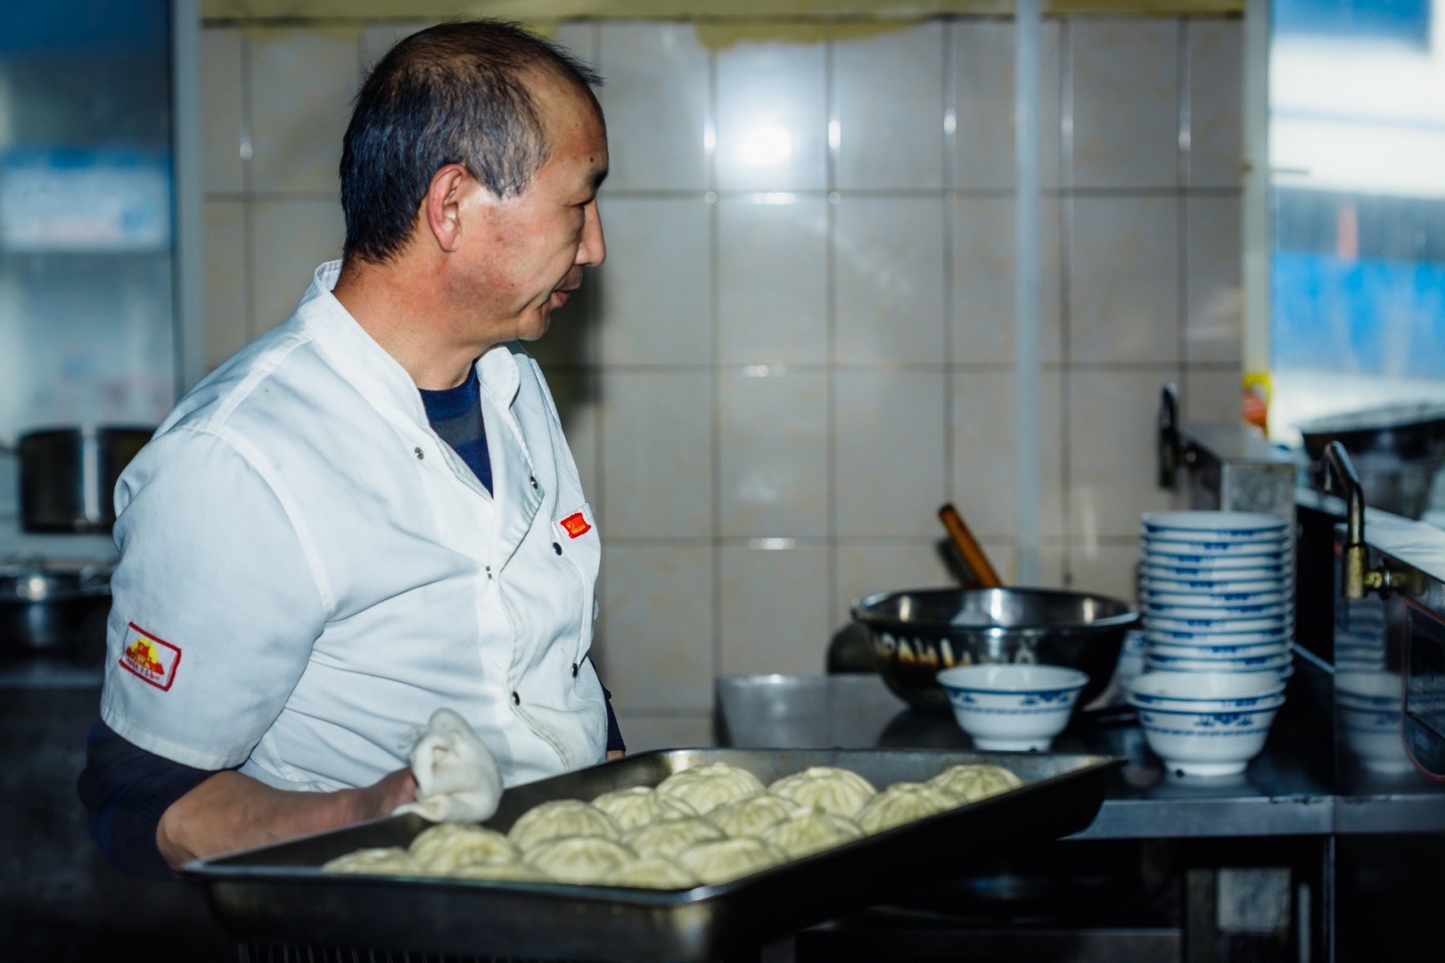
<path fill-rule="evenodd" d="M 108 532 L 116 479 L 150 428 L 53 428 L 20 435 L 20 525 L 27 532 Z"/>

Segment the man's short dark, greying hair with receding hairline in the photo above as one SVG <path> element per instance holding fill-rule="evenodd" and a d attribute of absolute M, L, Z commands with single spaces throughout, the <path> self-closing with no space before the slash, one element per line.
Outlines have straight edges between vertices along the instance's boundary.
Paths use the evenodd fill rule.
<path fill-rule="evenodd" d="M 442 23 L 376 65 L 341 146 L 345 257 L 400 252 L 432 176 L 460 163 L 500 198 L 526 191 L 551 156 L 527 77 L 552 72 L 582 91 L 601 78 L 562 48 L 501 20 Z"/>

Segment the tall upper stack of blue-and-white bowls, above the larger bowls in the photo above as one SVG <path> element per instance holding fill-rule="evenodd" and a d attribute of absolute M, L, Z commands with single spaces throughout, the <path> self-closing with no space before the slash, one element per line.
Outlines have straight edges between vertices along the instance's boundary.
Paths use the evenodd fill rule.
<path fill-rule="evenodd" d="M 1293 532 L 1254 512 L 1149 512 L 1142 519 L 1144 667 L 1289 672 Z"/>

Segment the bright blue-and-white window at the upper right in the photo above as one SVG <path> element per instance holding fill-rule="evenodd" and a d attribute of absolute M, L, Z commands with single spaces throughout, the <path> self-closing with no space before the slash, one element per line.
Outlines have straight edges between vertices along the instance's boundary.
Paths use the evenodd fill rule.
<path fill-rule="evenodd" d="M 1270 434 L 1445 401 L 1445 0 L 1279 0 Z"/>

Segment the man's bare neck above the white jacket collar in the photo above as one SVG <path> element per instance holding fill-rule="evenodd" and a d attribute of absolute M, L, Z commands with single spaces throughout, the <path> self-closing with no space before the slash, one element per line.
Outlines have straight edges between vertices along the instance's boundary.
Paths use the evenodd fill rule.
<path fill-rule="evenodd" d="M 406 369 L 418 388 L 457 388 L 490 344 L 460 344 L 429 276 L 347 260 L 332 289 L 361 330 Z"/>

